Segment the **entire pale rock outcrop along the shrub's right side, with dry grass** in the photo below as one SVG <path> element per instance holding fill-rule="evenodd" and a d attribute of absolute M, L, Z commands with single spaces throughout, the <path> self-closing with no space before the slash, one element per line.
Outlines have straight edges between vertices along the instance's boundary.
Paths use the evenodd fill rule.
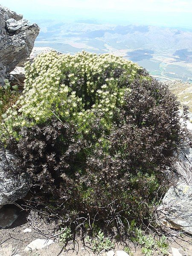
<path fill-rule="evenodd" d="M 189 119 L 191 116 L 189 113 Z M 187 121 L 186 125 L 192 132 L 192 123 Z M 192 234 L 192 148 L 175 151 L 175 159 L 172 167 L 177 181 L 158 207 L 158 219 L 160 224 Z"/>

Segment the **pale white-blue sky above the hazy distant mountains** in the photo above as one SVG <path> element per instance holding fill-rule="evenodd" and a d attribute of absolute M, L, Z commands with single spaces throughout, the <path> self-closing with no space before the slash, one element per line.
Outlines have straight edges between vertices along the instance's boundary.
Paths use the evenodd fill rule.
<path fill-rule="evenodd" d="M 192 29 L 192 0 L 0 0 L 27 19 L 95 19 Z"/>

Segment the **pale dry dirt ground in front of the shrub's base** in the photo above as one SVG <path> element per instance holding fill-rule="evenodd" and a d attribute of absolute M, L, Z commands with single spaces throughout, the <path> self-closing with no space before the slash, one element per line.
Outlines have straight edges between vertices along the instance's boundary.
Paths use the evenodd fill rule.
<path fill-rule="evenodd" d="M 23 230 L 30 228 L 32 232 L 24 233 Z M 56 229 L 56 230 L 55 230 Z M 192 237 L 180 232 L 167 229 L 166 236 L 169 242 L 169 256 L 172 256 L 171 247 L 178 248 L 182 256 L 192 256 Z M 19 218 L 12 226 L 0 230 L 0 256 L 95 256 L 90 244 L 83 244 L 82 239 L 76 238 L 70 241 L 66 248 L 58 240 L 58 225 L 55 222 L 48 223 L 44 219 L 38 218 L 35 214 L 29 215 L 26 212 L 20 212 Z M 24 251 L 24 248 L 35 239 L 52 239 L 54 244 L 49 247 L 35 250 L 32 252 Z M 156 237 L 158 239 L 158 237 Z M 130 241 L 116 242 L 116 250 L 123 250 L 127 245 L 132 254 L 130 256 L 143 256 L 141 248 Z M 106 255 L 104 252 L 99 253 L 100 256 Z M 153 252 L 153 256 L 160 256 L 157 251 Z"/>

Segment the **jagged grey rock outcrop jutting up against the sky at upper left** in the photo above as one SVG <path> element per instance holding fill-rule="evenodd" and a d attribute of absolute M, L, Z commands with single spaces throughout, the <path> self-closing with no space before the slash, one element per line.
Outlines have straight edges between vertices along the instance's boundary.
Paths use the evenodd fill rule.
<path fill-rule="evenodd" d="M 0 84 L 17 64 L 29 57 L 38 36 L 37 24 L 30 24 L 9 9 L 0 6 Z"/>

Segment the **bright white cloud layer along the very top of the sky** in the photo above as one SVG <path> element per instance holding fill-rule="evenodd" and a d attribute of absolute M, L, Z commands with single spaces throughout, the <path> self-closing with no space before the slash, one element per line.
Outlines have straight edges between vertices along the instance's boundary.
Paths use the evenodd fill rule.
<path fill-rule="evenodd" d="M 79 9 L 139 12 L 192 12 L 192 0 L 1 0 L 7 6 L 32 9 Z"/>

